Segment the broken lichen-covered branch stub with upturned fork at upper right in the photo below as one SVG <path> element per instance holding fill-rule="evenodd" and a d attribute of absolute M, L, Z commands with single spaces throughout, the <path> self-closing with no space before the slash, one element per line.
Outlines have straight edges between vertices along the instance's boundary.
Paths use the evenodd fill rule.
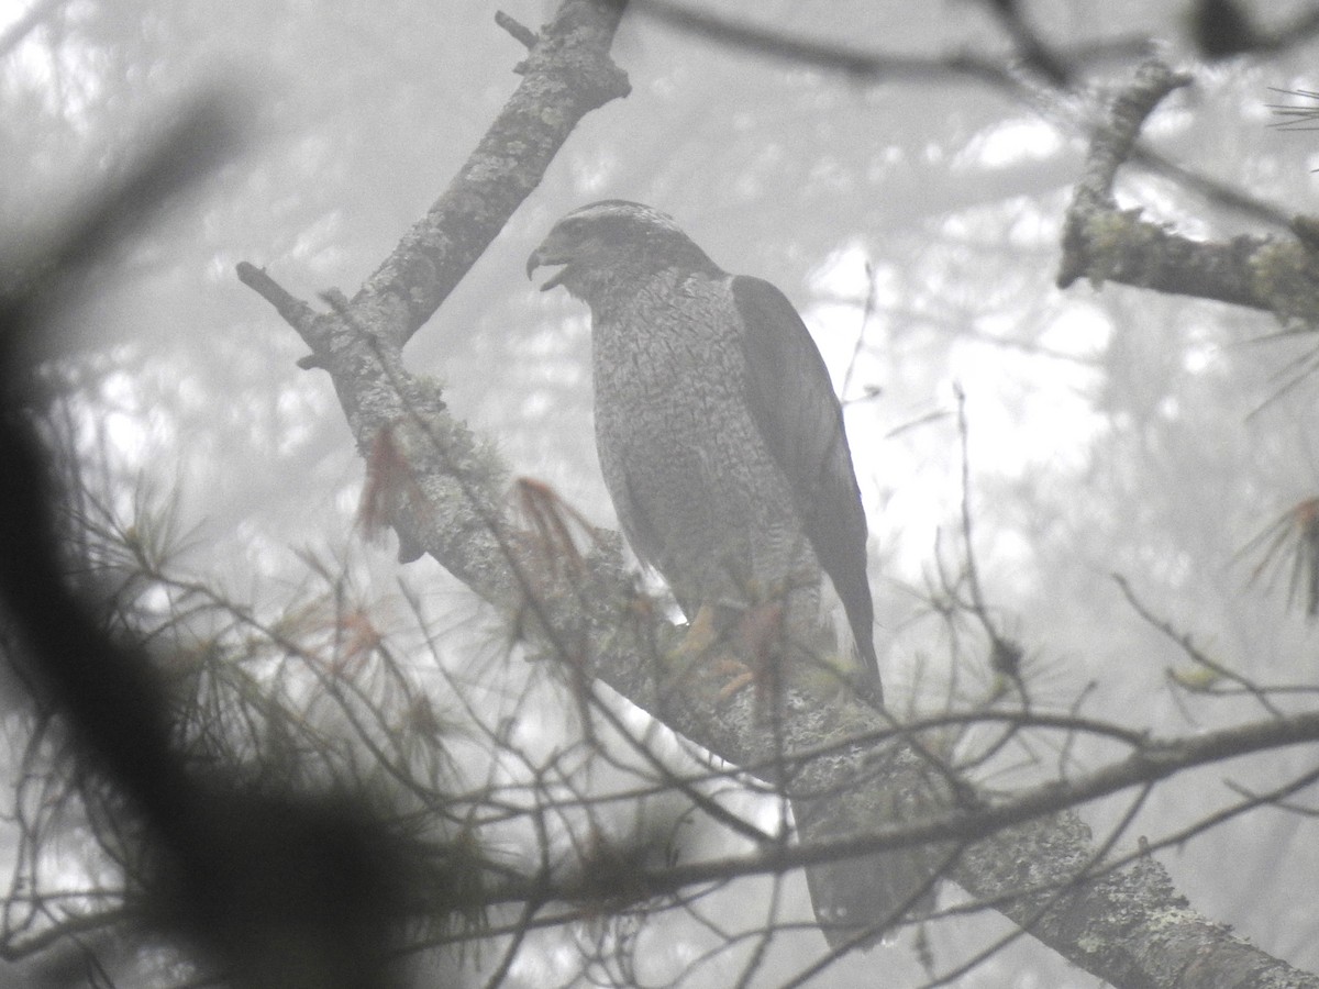
<path fill-rule="evenodd" d="M 1095 286 L 1113 281 L 1248 306 L 1285 323 L 1319 322 L 1319 253 L 1306 240 L 1242 235 L 1198 241 L 1145 219 L 1138 208 L 1117 207 L 1113 183 L 1141 127 L 1167 94 L 1188 83 L 1190 76 L 1150 62 L 1113 102 L 1067 210 L 1058 286 L 1078 278 Z"/>

